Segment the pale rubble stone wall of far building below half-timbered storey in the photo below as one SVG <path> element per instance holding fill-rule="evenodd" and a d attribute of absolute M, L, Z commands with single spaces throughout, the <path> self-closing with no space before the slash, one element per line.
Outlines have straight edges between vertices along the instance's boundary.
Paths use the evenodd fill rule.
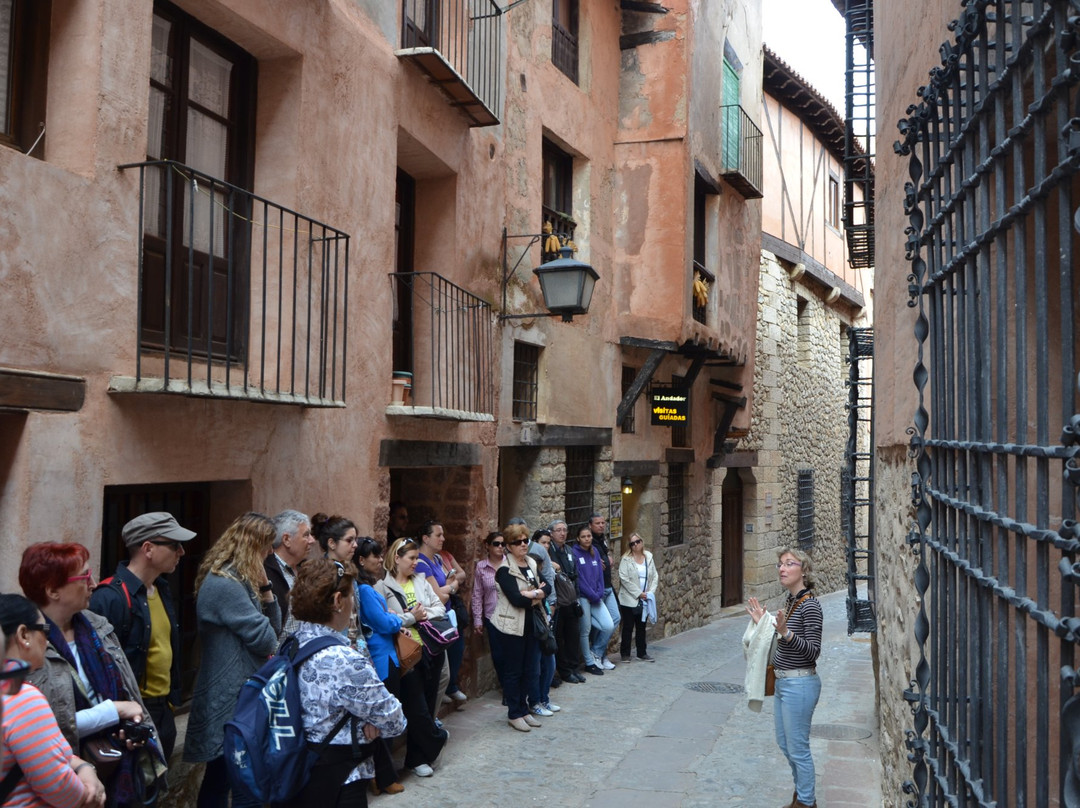
<path fill-rule="evenodd" d="M 789 267 L 762 251 L 757 394 L 753 426 L 738 446 L 758 453 L 755 501 L 750 501 L 747 489 L 745 504 L 752 530 L 745 537 L 744 579 L 747 596 L 766 600 L 782 594 L 772 566 L 775 550 L 798 540 L 798 475 L 804 470 L 812 470 L 814 479 L 811 555 L 816 588 L 832 592 L 847 583 L 840 481 L 848 439 L 848 367 L 841 326 L 853 323 L 849 312 L 826 305 L 816 286 L 791 280 Z"/>

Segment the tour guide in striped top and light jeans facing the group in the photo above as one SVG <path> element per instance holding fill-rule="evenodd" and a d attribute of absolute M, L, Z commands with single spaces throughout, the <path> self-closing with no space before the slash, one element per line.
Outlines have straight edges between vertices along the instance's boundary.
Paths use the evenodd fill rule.
<path fill-rule="evenodd" d="M 777 743 L 795 778 L 795 793 L 785 808 L 816 808 L 810 722 L 821 696 L 816 669 L 821 654 L 821 603 L 810 591 L 813 562 L 809 555 L 783 548 L 778 553 L 777 570 L 781 585 L 787 590 L 784 608 L 777 611 L 777 650 L 772 658 L 777 673 Z M 765 608 L 756 597 L 750 598 L 746 610 L 755 623 L 765 616 Z"/>

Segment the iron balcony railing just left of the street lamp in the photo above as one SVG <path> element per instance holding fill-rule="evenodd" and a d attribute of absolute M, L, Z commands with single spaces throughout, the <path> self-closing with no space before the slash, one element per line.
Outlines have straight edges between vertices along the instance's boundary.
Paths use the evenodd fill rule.
<path fill-rule="evenodd" d="M 393 327 L 408 341 L 411 374 L 403 415 L 492 420 L 495 315 L 491 305 L 435 272 L 392 272 Z"/>

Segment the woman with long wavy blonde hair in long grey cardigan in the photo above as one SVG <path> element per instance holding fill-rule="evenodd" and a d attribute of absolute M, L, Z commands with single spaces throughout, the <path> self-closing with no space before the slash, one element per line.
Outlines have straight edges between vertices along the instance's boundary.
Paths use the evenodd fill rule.
<path fill-rule="evenodd" d="M 201 658 L 184 759 L 205 763 L 198 808 L 225 808 L 225 723 L 232 717 L 244 682 L 274 652 L 281 609 L 264 560 L 273 544 L 273 522 L 245 513 L 203 556 L 195 577 L 195 616 Z M 233 799 L 233 806 L 238 806 Z"/>

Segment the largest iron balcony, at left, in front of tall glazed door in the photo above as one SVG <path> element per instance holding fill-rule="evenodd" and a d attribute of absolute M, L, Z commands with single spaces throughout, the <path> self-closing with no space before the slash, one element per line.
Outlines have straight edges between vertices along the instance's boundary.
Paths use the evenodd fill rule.
<path fill-rule="evenodd" d="M 170 160 L 138 171 L 135 375 L 113 393 L 345 406 L 349 237 Z"/>

